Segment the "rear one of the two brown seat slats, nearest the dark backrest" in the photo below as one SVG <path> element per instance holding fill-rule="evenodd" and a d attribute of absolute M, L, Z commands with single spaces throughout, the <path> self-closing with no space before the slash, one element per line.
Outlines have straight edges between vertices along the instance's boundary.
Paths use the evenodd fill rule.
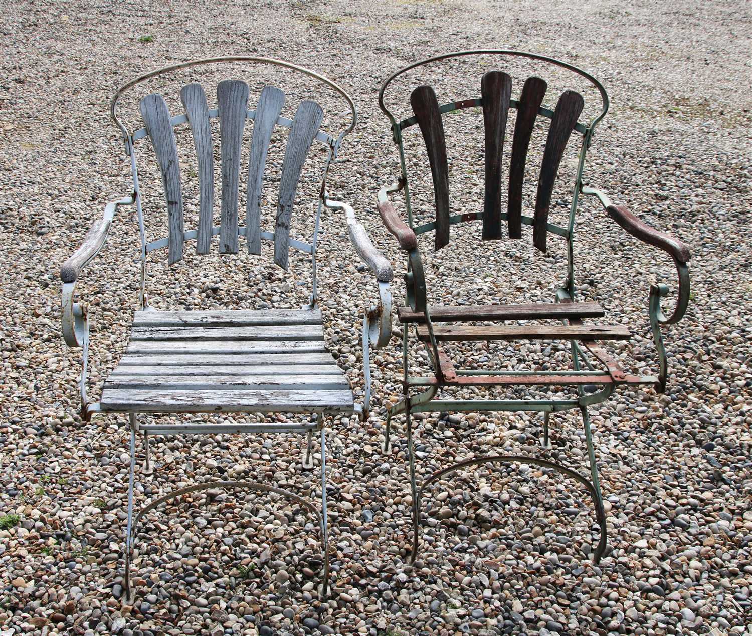
<path fill-rule="evenodd" d="M 462 323 L 480 320 L 559 320 L 562 318 L 602 318 L 603 308 L 596 302 L 551 302 L 526 304 L 470 304 L 457 307 L 429 307 L 431 320 Z M 425 323 L 422 312 L 398 307 L 400 323 Z"/>

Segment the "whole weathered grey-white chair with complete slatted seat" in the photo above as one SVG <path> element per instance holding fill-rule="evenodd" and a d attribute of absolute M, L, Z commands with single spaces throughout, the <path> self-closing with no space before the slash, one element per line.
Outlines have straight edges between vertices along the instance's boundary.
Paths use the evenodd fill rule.
<path fill-rule="evenodd" d="M 189 83 L 180 89 L 184 114 L 171 114 L 165 98 L 159 94 L 145 96 L 139 102 L 144 128 L 129 132 L 121 123 L 117 107 L 124 93 L 136 85 L 181 69 L 208 65 L 226 65 L 228 73 L 235 72 L 237 63 L 274 65 L 293 74 L 305 74 L 316 80 L 316 86 L 328 87 L 344 100 L 347 125 L 341 132 L 328 134 L 320 128 L 323 109 L 315 101 L 303 100 L 297 105 L 292 120 L 280 116 L 285 93 L 274 86 L 265 86 L 259 95 L 249 95 L 249 86 L 240 80 L 223 80 L 211 95 L 199 83 Z M 254 68 L 259 68 L 254 66 Z M 265 67 L 265 68 L 268 68 Z M 162 78 L 164 79 L 164 78 Z M 323 86 L 322 86 L 323 85 Z M 176 91 L 177 92 L 177 86 Z M 166 94 L 166 93 L 165 93 Z M 168 98 L 173 98 L 169 95 Z M 293 104 L 293 108 L 295 105 Z M 341 108 L 340 108 L 341 110 Z M 128 526 L 125 540 L 126 600 L 132 598 L 130 562 L 137 535 L 138 521 L 149 510 L 186 492 L 217 487 L 244 488 L 254 492 L 274 492 L 302 504 L 318 517 L 323 553 L 322 596 L 326 595 L 329 575 L 329 550 L 326 530 L 326 416 L 353 413 L 356 406 L 347 377 L 328 352 L 323 336 L 322 315 L 317 306 L 316 247 L 320 216 L 324 207 L 342 210 L 347 220 L 350 238 L 362 259 L 374 270 L 378 280 L 387 283 L 392 271 L 387 261 L 374 249 L 365 230 L 356 223 L 353 210 L 344 203 L 332 201 L 326 194 L 326 175 L 329 164 L 337 156 L 340 144 L 356 123 L 352 99 L 339 86 L 308 69 L 275 59 L 232 57 L 202 59 L 185 62 L 144 74 L 127 83 L 114 96 L 111 114 L 123 135 L 126 155 L 132 171 L 132 195 L 120 198 L 105 207 L 102 220 L 97 221 L 83 245 L 62 266 L 62 332 L 71 347 L 83 347 L 83 368 L 80 377 L 81 416 L 88 420 L 92 413 L 128 413 L 130 421 L 130 472 L 128 490 Z M 342 114 L 340 114 L 342 115 Z M 219 120 L 220 134 L 212 138 L 212 120 Z M 247 167 L 241 166 L 241 147 L 244 127 L 253 121 Z M 190 129 L 196 153 L 198 177 L 198 227 L 184 226 L 184 205 L 195 190 L 181 184 L 179 154 L 174 129 Z M 289 129 L 289 135 L 284 129 Z M 271 142 L 284 153 L 276 197 L 270 192 L 276 182 L 264 186 L 265 167 L 270 140 L 276 134 L 281 141 Z M 220 225 L 214 226 L 214 142 L 219 137 L 221 210 Z M 137 151 L 149 138 L 159 163 L 167 215 L 168 236 L 147 241 L 144 229 L 141 189 L 138 180 Z M 139 144 L 141 142 L 141 144 Z M 311 144 L 323 144 L 323 174 L 318 200 L 313 201 L 315 220 L 310 242 L 291 237 L 296 215 L 304 215 L 305 207 L 296 201 L 296 191 L 302 168 Z M 271 157 L 271 155 L 270 155 Z M 278 168 L 280 162 L 274 165 Z M 144 161 L 142 159 L 142 164 Z M 141 168 L 144 168 L 141 165 Z M 243 169 L 241 169 L 243 168 Z M 267 168 L 267 170 L 270 168 Z M 143 170 L 142 170 L 143 173 Z M 267 175 L 268 176 L 268 175 Z M 241 180 L 247 178 L 244 225 L 238 223 L 238 199 Z M 266 179 L 267 182 L 269 179 Z M 315 184 L 314 184 L 315 185 Z M 265 190 L 262 192 L 262 190 Z M 263 196 L 262 196 L 263 194 Z M 275 200 L 276 214 L 271 216 L 273 231 L 262 230 L 262 202 L 265 197 Z M 300 198 L 300 197 L 299 197 Z M 309 201 L 311 203 L 311 201 Z M 74 288 L 80 271 L 105 245 L 114 214 L 120 206 L 135 205 L 141 236 L 141 277 L 138 307 L 135 312 L 130 344 L 114 372 L 105 381 L 102 398 L 92 404 L 86 398 L 86 367 L 89 347 L 89 327 L 86 305 L 74 302 Z M 187 209 L 187 207 L 186 207 Z M 274 210 L 271 210 L 273 214 Z M 218 244 L 213 237 L 219 237 Z M 239 240 L 244 238 L 244 240 Z M 172 265 L 183 258 L 195 240 L 199 254 L 218 250 L 222 254 L 261 254 L 263 241 L 274 241 L 274 262 L 287 270 L 288 253 L 299 250 L 310 255 L 311 295 L 302 309 L 259 310 L 154 310 L 147 296 L 147 262 L 151 253 L 167 248 Z M 241 244 L 244 243 L 244 244 Z M 216 257 L 216 256 L 215 256 Z M 310 413 L 315 419 L 297 422 L 242 423 L 232 425 L 191 423 L 162 423 L 159 419 L 139 422 L 139 415 L 174 413 Z M 312 467 L 311 439 L 320 434 L 321 443 L 321 513 L 305 498 L 268 483 L 250 481 L 209 481 L 177 489 L 156 498 L 134 514 L 135 441 L 141 436 L 144 444 L 147 471 L 150 470 L 148 436 L 201 434 L 220 432 L 263 434 L 266 432 L 294 432 L 308 435 L 303 465 Z"/>

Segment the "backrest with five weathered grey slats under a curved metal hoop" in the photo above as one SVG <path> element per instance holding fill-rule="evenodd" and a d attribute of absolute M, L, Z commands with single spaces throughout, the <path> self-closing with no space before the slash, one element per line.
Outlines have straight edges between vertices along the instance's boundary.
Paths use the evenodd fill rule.
<path fill-rule="evenodd" d="M 254 64 L 275 65 L 295 73 L 313 77 L 318 83 L 333 89 L 338 97 L 347 102 L 346 114 L 349 126 L 345 126 L 336 135 L 329 135 L 320 129 L 323 120 L 323 108 L 316 101 L 303 99 L 296 106 L 292 119 L 282 117 L 285 93 L 276 86 L 264 86 L 258 95 L 250 95 L 247 83 L 241 80 L 222 80 L 216 85 L 216 92 L 205 89 L 200 83 L 187 83 L 180 89 L 180 103 L 184 112 L 171 114 L 167 101 L 159 93 L 146 95 L 138 102 L 144 127 L 129 132 L 117 114 L 117 106 L 126 91 L 138 83 L 150 80 L 183 68 L 198 65 L 217 64 L 218 62 L 250 62 Z M 176 91 L 177 92 L 177 91 Z M 209 97 L 208 97 L 209 93 Z M 214 93 L 214 94 L 212 94 Z M 216 95 L 216 107 L 211 104 Z M 290 104 L 288 104 L 290 105 Z M 251 108 L 252 107 L 252 108 Z M 295 108 L 293 106 L 293 108 Z M 325 77 L 289 62 L 258 57 L 226 57 L 194 60 L 180 65 L 161 68 L 132 80 L 121 88 L 111 103 L 113 120 L 120 128 L 126 144 L 126 153 L 131 157 L 136 203 L 141 224 L 142 256 L 147 252 L 168 247 L 168 262 L 173 264 L 183 258 L 185 241 L 196 239 L 196 253 L 206 254 L 211 250 L 211 238 L 219 235 L 219 252 L 222 254 L 238 253 L 238 236 L 246 238 L 247 252 L 261 253 L 261 241 L 274 241 L 274 262 L 280 267 L 288 268 L 290 247 L 315 256 L 317 229 L 321 214 L 323 197 L 326 189 L 326 176 L 329 164 L 338 153 L 342 139 L 356 123 L 353 101 L 339 86 Z M 212 120 L 218 120 L 219 135 L 212 135 Z M 253 121 L 253 133 L 250 138 L 250 150 L 247 152 L 247 168 L 241 165 L 244 130 L 247 120 Z M 193 150 L 196 159 L 196 176 L 198 178 L 198 223 L 195 229 L 186 229 L 184 208 L 186 191 L 181 180 L 180 160 L 175 129 L 183 126 L 190 129 L 193 137 Z M 216 124 L 215 124 L 216 126 Z M 262 230 L 262 190 L 267 164 L 267 153 L 275 127 L 289 129 L 284 140 L 284 160 L 281 166 L 276 197 L 276 214 L 271 232 Z M 219 137 L 220 177 L 220 225 L 214 226 L 215 218 L 215 146 Z M 146 242 L 144 220 L 141 209 L 141 191 L 138 181 L 136 161 L 137 142 L 149 138 L 159 165 L 162 187 L 168 215 L 168 236 L 156 241 Z M 318 189 L 319 201 L 314 223 L 314 236 L 310 242 L 290 238 L 290 223 L 296 192 L 301 178 L 302 168 L 306 162 L 311 144 L 324 144 L 327 148 L 326 160 L 321 173 L 321 186 Z M 238 223 L 241 180 L 245 188 L 245 223 Z M 267 185 L 268 187 L 268 185 Z M 265 192 L 268 198 L 269 192 Z"/>

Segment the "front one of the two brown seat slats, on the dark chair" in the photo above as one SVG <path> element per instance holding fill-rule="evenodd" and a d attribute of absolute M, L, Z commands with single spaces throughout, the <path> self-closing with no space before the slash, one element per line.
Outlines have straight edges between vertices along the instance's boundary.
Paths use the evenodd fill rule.
<path fill-rule="evenodd" d="M 417 327 L 418 338 L 429 340 L 428 328 Z M 620 325 L 521 325 L 433 328 L 439 341 L 478 340 L 629 340 L 629 329 Z"/>

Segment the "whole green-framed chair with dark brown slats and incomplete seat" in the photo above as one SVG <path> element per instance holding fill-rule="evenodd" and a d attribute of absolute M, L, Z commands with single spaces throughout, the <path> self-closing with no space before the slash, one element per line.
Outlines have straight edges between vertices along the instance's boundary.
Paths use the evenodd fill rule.
<path fill-rule="evenodd" d="M 450 61 L 458 65 L 483 65 L 484 71 L 478 72 L 477 75 L 463 70 L 463 80 L 460 83 L 465 84 L 465 87 L 469 83 L 471 97 L 465 95 L 457 99 L 456 95 L 447 95 L 447 91 L 444 91 L 441 98 L 438 98 L 432 86 L 426 83 L 417 85 L 418 82 L 411 78 L 412 74 L 421 71 L 432 74 L 434 80 L 441 81 L 449 72 L 444 71 L 444 68 Z M 514 83 L 511 76 L 505 72 L 511 65 L 519 69 L 521 79 L 517 83 Z M 556 74 L 557 78 L 563 77 L 564 88 L 569 88 L 571 84 L 568 82 L 573 80 L 584 84 L 584 94 L 592 98 L 595 104 L 590 117 L 583 116 L 585 100 L 579 92 L 572 89 L 559 92 L 559 89 L 552 94 L 545 78 L 531 75 L 529 68 L 526 70 L 526 66 L 532 65 L 535 65 L 536 69 L 543 68 L 544 72 Z M 396 82 L 398 88 L 395 88 Z M 559 81 L 559 84 L 562 82 Z M 379 192 L 377 207 L 384 226 L 399 241 L 399 246 L 407 257 L 405 305 L 397 310 L 399 323 L 403 327 L 402 401 L 387 409 L 384 451 L 390 450 L 391 420 L 404 413 L 412 491 L 411 559 L 415 559 L 419 544 L 421 496 L 429 486 L 438 480 L 446 479 L 454 471 L 473 465 L 486 465 L 491 462 L 509 465 L 513 462 L 523 462 L 560 471 L 590 492 L 599 524 L 599 541 L 593 554 L 594 560 L 598 562 L 606 549 L 606 522 L 588 409 L 601 404 L 610 398 L 614 391 L 623 387 L 652 386 L 658 392 L 666 389 L 668 367 L 661 327 L 678 323 L 687 310 L 690 298 L 687 262 L 690 259 L 690 251 L 684 243 L 651 228 L 623 205 L 613 204 L 599 189 L 584 185 L 587 150 L 593 141 L 596 126 L 608 111 L 608 95 L 598 80 L 580 68 L 556 59 L 514 50 L 449 53 L 415 62 L 396 71 L 381 86 L 378 104 L 390 120 L 393 141 L 399 151 L 401 171 L 395 185 L 385 187 Z M 395 112 L 403 113 L 403 118 L 399 119 Z M 449 117 L 450 115 L 453 117 Z M 456 138 L 445 135 L 450 120 L 455 127 L 462 130 L 465 138 L 471 140 L 469 147 L 460 144 L 465 139 L 457 141 Z M 461 120 L 461 123 L 456 123 L 458 120 Z M 513 120 L 512 133 L 508 132 L 508 128 L 511 129 Z M 422 142 L 408 139 L 416 130 L 422 134 Z M 476 130 L 479 134 L 472 135 Z M 509 138 L 511 153 L 508 152 L 508 146 L 505 151 L 505 139 Z M 531 138 L 534 141 L 536 138 L 541 142 L 544 140 L 537 155 L 532 151 L 534 144 Z M 456 145 L 450 146 L 453 142 L 457 142 Z M 572 157 L 569 159 L 569 178 L 573 177 L 573 181 L 562 186 L 566 187 L 565 194 L 552 198 L 562 157 L 565 156 L 568 144 L 570 147 L 576 145 L 574 150 L 569 150 Z M 416 159 L 414 155 L 423 155 L 421 147 L 425 148 L 425 155 Z M 450 199 L 450 174 L 453 176 L 459 169 L 453 171 L 452 154 L 447 153 L 447 147 L 450 147 L 455 161 L 462 155 L 465 160 L 468 157 L 478 157 L 478 164 L 483 163 L 483 167 L 478 170 L 484 175 L 483 180 L 482 177 L 478 178 L 478 182 L 484 183 L 482 201 L 481 196 L 472 198 L 464 193 L 459 201 Z M 408 165 L 411 165 L 411 161 L 420 162 L 420 159 L 423 159 L 420 167 L 423 168 L 426 163 L 427 167 L 423 168 L 423 172 L 419 168 L 417 173 L 413 171 L 408 174 Z M 462 168 L 466 165 L 467 161 L 462 164 Z M 420 189 L 413 186 L 416 182 L 420 183 L 423 178 L 423 190 L 430 190 L 428 171 L 431 175 L 432 195 L 426 195 L 422 204 L 416 203 L 416 192 L 420 192 Z M 462 172 L 464 173 L 464 170 Z M 426 177 L 423 177 L 423 174 L 426 174 Z M 465 177 L 464 183 L 467 183 L 467 178 Z M 502 193 L 505 186 L 504 198 Z M 403 195 L 402 205 L 405 209 L 406 223 L 387 199 L 387 195 L 398 192 Z M 620 363 L 602 343 L 628 340 L 631 336 L 629 329 L 621 325 L 589 322 L 590 319 L 604 316 L 605 312 L 596 302 L 578 301 L 576 296 L 575 217 L 584 196 L 599 201 L 608 217 L 629 235 L 664 250 L 675 262 L 679 279 L 678 298 L 670 316 L 664 315 L 660 307 L 661 298 L 666 296 L 668 288 L 662 284 L 650 287 L 647 313 L 659 361 L 658 371 L 654 375 L 631 374 L 621 368 Z M 562 201 L 562 198 L 566 198 L 567 201 Z M 452 207 L 459 207 L 465 211 L 453 214 Z M 559 217 L 562 218 L 559 223 L 552 218 L 556 207 L 560 208 Z M 529 213 L 526 212 L 528 209 L 531 210 Z M 481 226 L 479 231 L 475 231 L 477 238 L 472 235 L 468 238 L 471 232 L 471 229 L 467 228 L 468 224 Z M 538 250 L 537 253 L 544 256 L 550 244 L 556 242 L 556 250 L 566 255 L 559 259 L 562 265 L 566 264 L 566 269 L 562 268 L 561 272 L 565 282 L 556 291 L 556 297 L 552 302 L 429 305 L 429 274 L 436 278 L 436 264 L 442 261 L 440 255 L 434 255 L 433 268 L 426 270 L 425 252 L 422 253 L 418 245 L 421 235 L 432 235 L 434 250 L 452 250 L 453 241 L 457 241 L 458 236 L 462 236 L 464 241 L 481 239 L 474 243 L 475 249 L 481 254 L 491 255 L 502 250 L 502 240 L 518 241 L 527 238 L 526 228 L 529 227 L 532 228 L 533 252 Z M 532 254 L 528 258 L 535 259 L 535 255 Z M 519 271 L 499 271 L 496 274 L 499 281 L 510 283 L 514 289 L 514 283 L 525 280 L 527 272 L 526 268 L 521 267 Z M 462 281 L 457 284 L 459 283 Z M 389 290 L 386 286 L 382 296 L 382 304 L 374 307 L 365 316 L 364 323 L 363 350 L 368 385 L 366 412 L 370 397 L 369 349 L 384 347 L 389 341 L 387 323 L 391 320 L 391 309 Z M 520 324 L 519 321 L 524 323 Z M 456 344 L 472 344 L 475 341 L 564 341 L 569 342 L 571 360 L 569 368 L 556 370 L 543 365 L 538 365 L 542 366 L 542 369 L 458 368 L 447 349 Z M 424 352 L 428 354 L 426 358 L 411 354 L 416 343 L 424 345 Z M 503 354 L 500 359 L 504 366 Z M 419 368 L 420 372 L 416 372 L 416 368 Z M 458 399 L 454 396 L 458 391 L 492 389 L 505 395 L 499 399 L 482 400 Z M 521 391 L 529 395 L 533 389 L 544 394 L 549 393 L 544 395 L 544 398 L 509 398 L 510 391 Z M 556 392 L 553 392 L 554 389 Z M 439 392 L 446 397 L 437 398 Z M 550 415 L 565 410 L 578 410 L 581 413 L 590 463 L 589 479 L 559 462 L 542 456 L 502 454 L 476 456 L 468 461 L 453 463 L 435 471 L 420 487 L 418 486 L 413 441 L 414 424 L 411 419 L 414 413 L 542 412 L 544 420 L 541 445 L 547 448 L 550 447 Z"/>

